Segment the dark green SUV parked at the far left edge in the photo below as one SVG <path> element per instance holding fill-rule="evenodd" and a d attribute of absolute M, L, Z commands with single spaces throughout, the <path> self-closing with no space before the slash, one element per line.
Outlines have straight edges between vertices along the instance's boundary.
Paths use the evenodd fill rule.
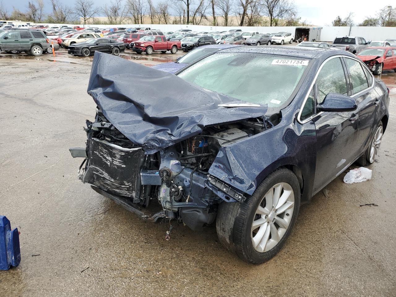
<path fill-rule="evenodd" d="M 28 55 L 40 56 L 50 46 L 47 36 L 39 30 L 0 32 L 0 51 L 11 53 L 25 51 Z"/>

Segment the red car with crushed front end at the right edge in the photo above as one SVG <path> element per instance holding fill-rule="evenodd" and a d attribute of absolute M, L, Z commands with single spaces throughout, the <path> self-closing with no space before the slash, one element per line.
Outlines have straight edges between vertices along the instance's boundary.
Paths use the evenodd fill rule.
<path fill-rule="evenodd" d="M 396 72 L 396 48 L 389 46 L 373 46 L 362 49 L 356 54 L 373 74 L 381 74 L 382 70 L 394 70 Z"/>

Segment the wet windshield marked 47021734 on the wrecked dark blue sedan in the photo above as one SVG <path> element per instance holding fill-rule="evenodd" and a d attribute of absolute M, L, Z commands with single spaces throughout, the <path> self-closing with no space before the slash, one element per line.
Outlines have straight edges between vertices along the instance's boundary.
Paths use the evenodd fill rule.
<path fill-rule="evenodd" d="M 217 52 L 178 76 L 202 88 L 279 110 L 297 87 L 309 61 L 261 53 Z"/>

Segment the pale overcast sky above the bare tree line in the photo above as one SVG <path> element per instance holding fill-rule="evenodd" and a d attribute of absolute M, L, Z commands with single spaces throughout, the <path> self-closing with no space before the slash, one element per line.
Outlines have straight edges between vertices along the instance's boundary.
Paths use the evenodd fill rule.
<path fill-rule="evenodd" d="M 25 10 L 28 0 L 0 0 L 3 5 L 8 6 L 9 10 L 12 10 L 12 6 L 15 6 L 19 10 Z M 46 3 L 46 9 L 50 9 L 49 1 L 44 0 Z M 71 5 L 74 0 L 61 0 Z M 108 0 L 95 0 L 98 6 L 108 3 Z M 153 2 L 158 2 L 154 0 Z M 374 16 L 375 10 L 379 10 L 384 6 L 394 4 L 394 0 L 375 0 L 370 1 L 371 3 L 365 3 L 366 1 L 350 0 L 294 0 L 295 5 L 298 7 L 298 16 L 301 16 L 303 21 L 307 21 L 313 25 L 331 25 L 331 21 L 340 15 L 341 18 L 346 17 L 350 11 L 354 13 L 355 23 L 362 22 L 365 17 Z"/>

